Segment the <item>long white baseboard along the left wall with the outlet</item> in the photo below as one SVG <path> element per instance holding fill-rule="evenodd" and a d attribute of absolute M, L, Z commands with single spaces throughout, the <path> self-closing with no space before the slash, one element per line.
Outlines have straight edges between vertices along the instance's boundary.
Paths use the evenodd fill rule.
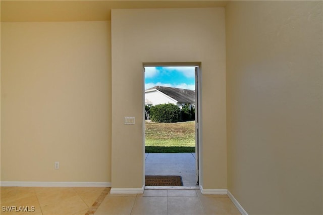
<path fill-rule="evenodd" d="M 2 181 L 2 187 L 111 187 L 111 182 Z"/>

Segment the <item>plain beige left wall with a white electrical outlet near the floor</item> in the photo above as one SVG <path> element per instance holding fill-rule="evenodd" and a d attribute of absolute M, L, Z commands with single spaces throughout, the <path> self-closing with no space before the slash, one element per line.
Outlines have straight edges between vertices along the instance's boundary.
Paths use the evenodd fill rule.
<path fill-rule="evenodd" d="M 1 181 L 111 182 L 110 41 L 106 21 L 1 23 Z"/>

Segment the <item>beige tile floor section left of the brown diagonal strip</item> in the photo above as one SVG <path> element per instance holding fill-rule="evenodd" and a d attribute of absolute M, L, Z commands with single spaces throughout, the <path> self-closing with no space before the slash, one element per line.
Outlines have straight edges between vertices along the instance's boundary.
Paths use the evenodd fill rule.
<path fill-rule="evenodd" d="M 84 215 L 104 189 L 104 187 L 1 187 L 0 213 Z M 13 206 L 11 209 L 14 211 L 5 211 L 4 207 L 10 206 Z M 22 208 L 19 209 L 20 206 L 29 211 L 22 211 Z"/>

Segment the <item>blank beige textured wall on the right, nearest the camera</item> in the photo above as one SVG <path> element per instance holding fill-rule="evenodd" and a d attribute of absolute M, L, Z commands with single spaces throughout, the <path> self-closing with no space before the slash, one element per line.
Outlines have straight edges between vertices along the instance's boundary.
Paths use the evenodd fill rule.
<path fill-rule="evenodd" d="M 226 39 L 229 191 L 322 214 L 322 2 L 229 2 Z"/>

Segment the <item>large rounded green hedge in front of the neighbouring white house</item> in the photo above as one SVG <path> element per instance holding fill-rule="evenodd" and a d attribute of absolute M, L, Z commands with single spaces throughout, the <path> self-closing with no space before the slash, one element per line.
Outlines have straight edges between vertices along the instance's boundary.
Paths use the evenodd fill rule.
<path fill-rule="evenodd" d="M 150 108 L 150 119 L 156 123 L 176 123 L 181 120 L 181 110 L 175 104 L 157 104 Z"/>

